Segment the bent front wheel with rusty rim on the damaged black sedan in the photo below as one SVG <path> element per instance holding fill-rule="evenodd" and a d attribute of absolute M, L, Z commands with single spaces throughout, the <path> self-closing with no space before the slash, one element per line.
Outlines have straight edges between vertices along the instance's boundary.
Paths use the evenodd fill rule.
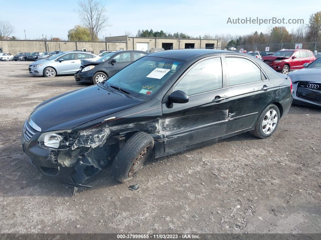
<path fill-rule="evenodd" d="M 136 132 L 117 153 L 112 165 L 113 176 L 121 183 L 134 178 L 149 158 L 154 139 L 145 132 Z"/>

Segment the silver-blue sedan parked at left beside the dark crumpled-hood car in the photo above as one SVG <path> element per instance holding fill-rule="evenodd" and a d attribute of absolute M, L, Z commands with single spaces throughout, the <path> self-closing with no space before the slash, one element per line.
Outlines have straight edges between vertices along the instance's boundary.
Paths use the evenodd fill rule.
<path fill-rule="evenodd" d="M 82 51 L 64 52 L 48 59 L 39 60 L 29 65 L 29 73 L 34 76 L 55 77 L 58 74 L 74 74 L 79 70 L 82 59 L 96 61 L 95 54 Z"/>

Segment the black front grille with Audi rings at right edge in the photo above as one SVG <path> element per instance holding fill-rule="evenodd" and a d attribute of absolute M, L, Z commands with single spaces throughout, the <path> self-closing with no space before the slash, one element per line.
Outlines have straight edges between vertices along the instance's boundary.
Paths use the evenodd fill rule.
<path fill-rule="evenodd" d="M 312 87 L 317 88 L 311 88 Z M 306 99 L 312 102 L 321 103 L 321 84 L 320 83 L 309 83 L 309 82 L 299 82 L 296 96 L 302 99 Z"/>

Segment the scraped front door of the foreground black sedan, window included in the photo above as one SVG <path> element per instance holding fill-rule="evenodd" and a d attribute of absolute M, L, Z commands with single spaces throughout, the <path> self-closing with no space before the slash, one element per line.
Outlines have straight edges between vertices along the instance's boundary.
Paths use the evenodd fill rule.
<path fill-rule="evenodd" d="M 225 134 L 229 95 L 221 58 L 212 56 L 195 62 L 170 89 L 168 94 L 177 90 L 186 93 L 187 103 L 171 103 L 165 95 L 162 103 L 165 151 L 187 149 L 189 145 Z"/>

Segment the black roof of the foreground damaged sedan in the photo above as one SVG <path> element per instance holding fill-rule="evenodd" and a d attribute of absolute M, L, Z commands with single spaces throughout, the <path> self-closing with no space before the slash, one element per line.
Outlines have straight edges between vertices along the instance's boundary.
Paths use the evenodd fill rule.
<path fill-rule="evenodd" d="M 204 55 L 204 54 L 213 54 L 213 53 L 234 53 L 232 51 L 224 50 L 213 50 L 213 49 L 176 49 L 176 50 L 166 50 L 160 51 L 152 54 L 148 54 L 149 57 L 165 57 L 165 58 L 174 58 L 179 60 L 187 61 L 190 58 Z"/>

